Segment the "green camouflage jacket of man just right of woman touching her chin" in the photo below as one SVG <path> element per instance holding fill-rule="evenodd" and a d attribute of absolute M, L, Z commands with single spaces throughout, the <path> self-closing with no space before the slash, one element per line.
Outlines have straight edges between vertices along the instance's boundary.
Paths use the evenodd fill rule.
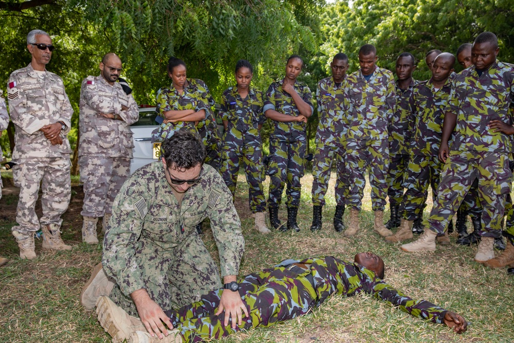
<path fill-rule="evenodd" d="M 316 144 L 342 145 L 346 135 L 343 122 L 343 87 L 338 86 L 331 77 L 318 82 L 316 101 L 318 102 L 318 131 Z"/>

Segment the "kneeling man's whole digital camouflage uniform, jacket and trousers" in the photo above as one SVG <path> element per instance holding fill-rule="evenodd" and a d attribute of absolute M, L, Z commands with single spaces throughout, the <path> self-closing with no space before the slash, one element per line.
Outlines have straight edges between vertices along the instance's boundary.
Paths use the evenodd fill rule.
<path fill-rule="evenodd" d="M 162 309 L 175 309 L 221 287 L 218 268 L 195 229 L 207 217 L 221 276 L 237 275 L 244 238 L 232 194 L 211 166 L 202 167 L 200 178 L 179 204 L 157 161 L 138 169 L 116 196 L 102 264 L 117 280 L 110 297 L 131 315 L 137 310 L 129 295 L 140 288 Z"/>

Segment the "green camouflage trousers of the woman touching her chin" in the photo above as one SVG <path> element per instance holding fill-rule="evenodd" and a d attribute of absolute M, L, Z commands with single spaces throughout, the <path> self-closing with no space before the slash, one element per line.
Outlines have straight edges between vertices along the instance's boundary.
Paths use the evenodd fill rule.
<path fill-rule="evenodd" d="M 268 206 L 276 207 L 280 205 L 282 202 L 282 191 L 286 182 L 286 206 L 300 206 L 300 195 L 302 192 L 300 179 L 304 174 L 303 158 L 306 149 L 305 136 L 294 141 L 286 138 L 270 137 Z"/>

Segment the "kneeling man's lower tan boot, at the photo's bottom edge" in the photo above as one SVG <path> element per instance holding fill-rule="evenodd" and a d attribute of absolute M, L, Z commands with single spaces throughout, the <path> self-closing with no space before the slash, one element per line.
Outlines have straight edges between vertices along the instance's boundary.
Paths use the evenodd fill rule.
<path fill-rule="evenodd" d="M 146 331 L 143 322 L 139 318 L 128 315 L 108 297 L 101 296 L 98 298 L 96 306 L 98 321 L 105 332 L 113 337 L 113 342 L 128 341 L 131 333 Z"/>

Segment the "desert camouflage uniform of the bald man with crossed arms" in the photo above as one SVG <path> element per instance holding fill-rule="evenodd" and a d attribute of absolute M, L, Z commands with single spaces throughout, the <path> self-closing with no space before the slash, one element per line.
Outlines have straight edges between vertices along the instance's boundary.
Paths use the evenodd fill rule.
<path fill-rule="evenodd" d="M 123 111 L 121 106 L 128 107 Z M 83 216 L 98 218 L 111 213 L 114 198 L 130 174 L 132 131 L 139 119 L 132 94 L 121 85 L 109 84 L 101 75 L 82 81 L 79 115 L 79 167 L 84 183 Z M 99 113 L 118 115 L 109 119 Z"/>

